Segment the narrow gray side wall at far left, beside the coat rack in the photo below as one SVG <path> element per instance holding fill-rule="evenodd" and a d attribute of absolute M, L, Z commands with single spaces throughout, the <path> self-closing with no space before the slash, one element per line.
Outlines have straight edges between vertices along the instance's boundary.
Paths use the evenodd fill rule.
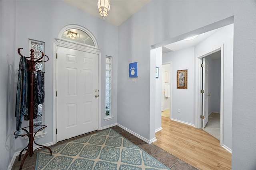
<path fill-rule="evenodd" d="M 14 156 L 14 131 L 16 131 L 15 68 L 17 49 L 15 1 L 0 1 L 0 169 L 6 170 Z"/>

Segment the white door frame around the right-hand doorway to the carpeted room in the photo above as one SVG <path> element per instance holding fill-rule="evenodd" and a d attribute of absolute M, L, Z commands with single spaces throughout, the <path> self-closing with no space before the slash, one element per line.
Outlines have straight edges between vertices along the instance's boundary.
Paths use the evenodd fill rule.
<path fill-rule="evenodd" d="M 202 128 L 202 121 L 200 118 L 201 115 L 201 108 L 202 108 L 202 95 L 200 93 L 201 84 L 202 84 L 202 69 L 200 67 L 202 63 L 202 58 L 220 51 L 220 145 L 223 145 L 223 119 L 224 119 L 224 44 L 220 45 L 219 47 L 208 51 L 198 57 L 196 57 L 196 115 L 195 115 L 195 125 L 196 128 Z"/>

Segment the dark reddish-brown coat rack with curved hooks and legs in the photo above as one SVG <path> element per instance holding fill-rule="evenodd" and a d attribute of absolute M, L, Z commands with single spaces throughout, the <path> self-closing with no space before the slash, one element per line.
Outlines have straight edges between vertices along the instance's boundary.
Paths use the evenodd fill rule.
<path fill-rule="evenodd" d="M 23 57 L 23 55 L 20 53 L 20 49 L 23 49 L 23 48 L 19 48 L 18 49 L 18 54 Z M 19 154 L 19 161 L 21 159 L 21 155 L 22 155 L 22 152 L 24 150 L 26 150 L 26 153 L 22 159 L 22 162 L 20 164 L 20 170 L 22 169 L 22 166 L 24 164 L 24 161 L 26 159 L 26 157 L 29 155 L 30 157 L 33 156 L 34 152 L 37 150 L 37 149 L 41 149 L 41 148 L 46 148 L 50 151 L 50 154 L 52 155 L 52 150 L 49 148 L 49 147 L 46 147 L 46 146 L 43 146 L 43 145 L 39 145 L 35 142 L 34 140 L 34 137 L 36 136 L 36 133 L 38 133 L 39 131 L 42 131 L 46 128 L 46 125 L 34 125 L 33 124 L 33 87 L 34 87 L 34 71 L 36 71 L 35 69 L 35 65 L 38 64 L 38 63 L 43 63 L 43 62 L 46 62 L 49 60 L 48 56 L 44 55 L 44 53 L 41 51 L 42 53 L 42 57 L 40 58 L 34 58 L 34 50 L 31 49 L 30 50 L 30 57 L 26 57 L 26 62 L 27 62 L 27 66 L 28 66 L 28 69 L 27 69 L 27 72 L 28 72 L 28 115 L 29 115 L 29 126 L 27 127 L 24 127 L 24 128 L 21 128 L 21 130 L 25 131 L 26 134 L 22 134 L 22 135 L 18 135 L 18 136 L 21 136 L 21 137 L 24 137 L 24 136 L 27 136 L 29 141 L 28 141 L 28 145 L 22 149 L 20 151 L 20 154 Z M 43 61 L 42 59 L 46 57 L 47 60 L 46 61 Z M 29 60 L 30 59 L 30 60 Z M 35 126 L 41 126 L 40 129 L 38 129 L 37 131 L 34 131 L 34 127 Z M 29 128 L 29 131 L 27 130 L 27 128 Z M 18 131 L 15 131 L 14 132 L 14 135 L 16 135 L 18 133 Z M 33 150 L 33 144 L 36 144 L 40 147 L 38 147 L 37 149 Z"/>

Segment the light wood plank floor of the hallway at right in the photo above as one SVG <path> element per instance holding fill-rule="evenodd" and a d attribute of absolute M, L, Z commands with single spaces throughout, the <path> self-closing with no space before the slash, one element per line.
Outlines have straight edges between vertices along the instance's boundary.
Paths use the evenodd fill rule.
<path fill-rule="evenodd" d="M 231 154 L 202 129 L 162 116 L 162 130 L 153 144 L 200 170 L 230 170 Z"/>

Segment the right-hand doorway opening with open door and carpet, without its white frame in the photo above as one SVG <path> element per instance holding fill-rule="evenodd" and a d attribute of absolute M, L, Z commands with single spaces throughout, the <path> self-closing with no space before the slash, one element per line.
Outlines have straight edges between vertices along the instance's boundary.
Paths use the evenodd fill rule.
<path fill-rule="evenodd" d="M 221 51 L 202 58 L 202 129 L 220 141 Z"/>

